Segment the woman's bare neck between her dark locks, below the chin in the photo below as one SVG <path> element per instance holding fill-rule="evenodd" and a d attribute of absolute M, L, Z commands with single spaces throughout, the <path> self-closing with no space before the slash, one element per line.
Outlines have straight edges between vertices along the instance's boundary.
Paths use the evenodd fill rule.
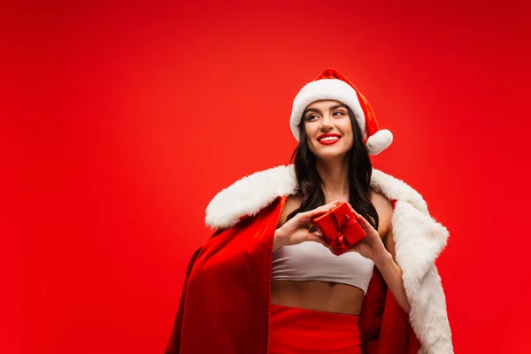
<path fill-rule="evenodd" d="M 325 203 L 335 199 L 349 201 L 349 161 L 347 157 L 316 161 L 317 171 L 324 182 Z"/>

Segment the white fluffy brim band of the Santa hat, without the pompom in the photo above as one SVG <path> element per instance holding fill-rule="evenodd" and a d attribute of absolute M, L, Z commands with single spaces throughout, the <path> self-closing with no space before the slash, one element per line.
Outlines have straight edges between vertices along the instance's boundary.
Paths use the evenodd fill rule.
<path fill-rule="evenodd" d="M 298 142 L 300 140 L 298 125 L 301 122 L 304 110 L 312 102 L 331 99 L 340 101 L 346 104 L 356 117 L 359 129 L 363 134 L 363 139 L 366 138 L 366 122 L 365 115 L 361 109 L 358 101 L 358 95 L 348 83 L 339 79 L 320 79 L 307 83 L 303 89 L 299 91 L 293 101 L 293 108 L 291 110 L 291 119 L 289 125 L 291 132 Z M 389 145 L 388 145 L 389 146 Z M 385 148 L 384 148 L 385 149 Z"/>

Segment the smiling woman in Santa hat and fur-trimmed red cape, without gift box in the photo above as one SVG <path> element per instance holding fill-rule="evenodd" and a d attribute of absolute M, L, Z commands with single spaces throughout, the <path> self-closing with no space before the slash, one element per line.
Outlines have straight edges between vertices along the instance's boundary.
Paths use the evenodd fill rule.
<path fill-rule="evenodd" d="M 295 164 L 212 199 L 166 353 L 451 353 L 435 258 L 448 230 L 373 169 L 389 147 L 370 104 L 327 69 L 298 93 Z M 366 239 L 335 256 L 311 219 L 348 202 Z M 412 324 L 410 326 L 410 323 Z"/>

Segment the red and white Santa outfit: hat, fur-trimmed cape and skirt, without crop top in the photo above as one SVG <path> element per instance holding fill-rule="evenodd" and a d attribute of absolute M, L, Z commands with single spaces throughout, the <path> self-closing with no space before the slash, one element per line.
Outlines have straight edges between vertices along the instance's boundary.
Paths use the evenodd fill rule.
<path fill-rule="evenodd" d="M 389 147 L 392 134 L 379 129 L 366 98 L 334 69 L 296 96 L 290 127 L 297 141 L 304 109 L 321 99 L 349 106 L 369 154 Z M 165 353 L 453 353 L 435 266 L 449 232 L 404 181 L 373 168 L 370 186 L 393 204 L 396 264 L 409 314 L 377 267 L 359 316 L 271 304 L 273 235 L 288 196 L 298 190 L 294 166 L 280 165 L 235 181 L 208 204 L 206 224 L 216 231 L 189 261 Z"/>

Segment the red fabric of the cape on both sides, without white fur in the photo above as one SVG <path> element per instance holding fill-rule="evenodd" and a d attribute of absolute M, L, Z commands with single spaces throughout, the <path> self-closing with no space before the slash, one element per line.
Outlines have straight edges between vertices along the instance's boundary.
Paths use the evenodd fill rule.
<path fill-rule="evenodd" d="M 267 354 L 273 235 L 286 196 L 217 230 L 190 259 L 165 354 Z M 359 319 L 367 354 L 417 353 L 408 314 L 374 268 Z"/>

